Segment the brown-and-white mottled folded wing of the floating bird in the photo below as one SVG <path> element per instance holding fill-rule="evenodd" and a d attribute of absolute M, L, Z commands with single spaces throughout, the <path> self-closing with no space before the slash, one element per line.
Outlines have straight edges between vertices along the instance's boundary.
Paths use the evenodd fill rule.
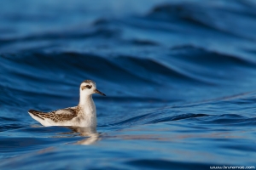
<path fill-rule="evenodd" d="M 28 112 L 31 113 L 33 116 L 39 117 L 40 119 L 50 119 L 53 122 L 66 122 L 78 116 L 78 111 L 76 110 L 76 107 L 68 107 L 66 109 L 51 111 L 49 113 L 35 110 L 29 110 Z"/>

